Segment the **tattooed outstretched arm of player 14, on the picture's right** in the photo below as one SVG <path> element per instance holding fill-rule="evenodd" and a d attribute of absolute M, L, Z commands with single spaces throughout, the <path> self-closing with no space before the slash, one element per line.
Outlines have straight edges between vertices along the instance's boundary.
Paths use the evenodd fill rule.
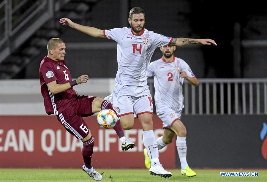
<path fill-rule="evenodd" d="M 203 45 L 217 45 L 216 42 L 212 39 L 187 39 L 187 38 L 173 38 L 170 45 L 176 46 L 184 46 L 184 45 L 191 45 L 191 44 L 198 44 L 201 43 Z"/>

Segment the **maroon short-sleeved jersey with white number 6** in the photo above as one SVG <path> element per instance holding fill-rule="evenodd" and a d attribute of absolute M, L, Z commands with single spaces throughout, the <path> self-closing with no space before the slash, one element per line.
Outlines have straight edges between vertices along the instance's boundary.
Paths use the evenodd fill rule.
<path fill-rule="evenodd" d="M 73 88 L 53 95 L 47 87 L 48 83 L 55 80 L 58 84 L 72 81 L 65 61 L 54 61 L 45 56 L 40 64 L 39 74 L 41 93 L 44 97 L 45 112 L 47 114 L 58 115 L 68 107 L 72 106 L 76 98 L 76 92 Z"/>

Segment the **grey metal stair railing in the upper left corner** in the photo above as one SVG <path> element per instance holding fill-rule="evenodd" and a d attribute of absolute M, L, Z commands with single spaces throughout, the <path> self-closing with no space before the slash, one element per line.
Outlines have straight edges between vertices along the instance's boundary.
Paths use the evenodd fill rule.
<path fill-rule="evenodd" d="M 0 3 L 0 62 L 70 0 L 3 0 Z"/>

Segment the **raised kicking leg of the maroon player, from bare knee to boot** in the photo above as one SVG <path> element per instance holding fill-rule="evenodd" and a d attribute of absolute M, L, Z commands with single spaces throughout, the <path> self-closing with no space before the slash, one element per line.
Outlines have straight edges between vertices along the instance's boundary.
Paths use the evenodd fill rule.
<path fill-rule="evenodd" d="M 92 102 L 92 111 L 94 113 L 97 113 L 103 109 L 113 110 L 116 113 L 116 115 L 118 115 L 116 110 L 113 108 L 112 104 L 109 101 L 104 100 L 104 99 L 99 98 L 99 97 L 96 97 Z M 119 138 L 121 140 L 122 150 L 127 151 L 129 148 L 134 148 L 135 144 L 124 136 L 124 132 L 123 132 L 122 127 L 121 127 L 120 119 L 117 121 L 117 123 L 113 127 L 113 129 L 116 131 L 117 135 L 119 136 Z"/>

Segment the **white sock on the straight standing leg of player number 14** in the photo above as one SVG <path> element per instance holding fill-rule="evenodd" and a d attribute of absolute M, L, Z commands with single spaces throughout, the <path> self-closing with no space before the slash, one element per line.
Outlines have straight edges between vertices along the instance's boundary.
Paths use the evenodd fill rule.
<path fill-rule="evenodd" d="M 159 151 L 156 143 L 155 135 L 153 130 L 143 131 L 144 145 L 148 151 L 148 156 L 151 161 L 151 166 L 160 165 L 159 163 Z"/>

